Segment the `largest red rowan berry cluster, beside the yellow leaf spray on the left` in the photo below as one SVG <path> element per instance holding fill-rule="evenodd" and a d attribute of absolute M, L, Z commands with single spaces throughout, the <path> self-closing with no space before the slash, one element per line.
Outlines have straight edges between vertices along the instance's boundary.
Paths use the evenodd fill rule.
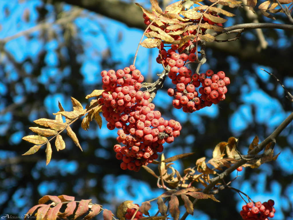
<path fill-rule="evenodd" d="M 102 98 L 98 99 L 109 130 L 118 128 L 116 158 L 122 160 L 120 167 L 138 171 L 158 158 L 163 143 L 172 143 L 178 137 L 181 125 L 173 119 L 164 120 L 155 105 L 149 103 L 149 92 L 142 92 L 141 72 L 134 65 L 123 70 L 101 72 Z"/>

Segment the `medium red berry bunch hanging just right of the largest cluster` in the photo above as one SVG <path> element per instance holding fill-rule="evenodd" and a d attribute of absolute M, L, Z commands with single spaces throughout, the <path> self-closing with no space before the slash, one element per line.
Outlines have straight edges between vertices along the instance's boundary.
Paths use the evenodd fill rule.
<path fill-rule="evenodd" d="M 185 66 L 179 69 L 176 67 L 176 70 L 172 70 L 173 68 L 171 67 L 168 76 L 176 84 L 176 88 L 169 88 L 168 95 L 175 98 L 172 104 L 176 109 L 183 108 L 184 112 L 191 113 L 225 99 L 226 85 L 230 84 L 230 79 L 223 71 L 214 74 L 212 70 L 207 70 L 200 75 L 191 75 L 191 70 Z M 196 87 L 200 87 L 198 92 Z"/>

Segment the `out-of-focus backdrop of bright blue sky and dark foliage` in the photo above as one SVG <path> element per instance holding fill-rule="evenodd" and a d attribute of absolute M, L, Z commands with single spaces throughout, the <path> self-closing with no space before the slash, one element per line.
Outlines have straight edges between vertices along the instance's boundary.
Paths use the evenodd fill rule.
<path fill-rule="evenodd" d="M 138 1 L 145 8 L 147 0 Z M 43 195 L 66 194 L 115 212 L 124 200 L 134 203 L 157 197 L 163 192 L 144 169 L 139 172 L 120 169 L 113 145 L 115 131 L 104 121 L 100 130 L 95 123 L 84 131 L 81 120 L 71 128 L 76 132 L 83 152 L 63 134 L 66 148 L 53 150 L 51 163 L 45 165 L 45 150 L 21 156 L 32 144 L 21 138 L 32 134 L 33 120 L 53 119 L 58 101 L 71 111 L 70 97 L 85 99 L 100 89 L 100 72 L 123 69 L 133 62 L 145 25 L 142 11 L 132 0 L 1 0 L 0 1 L 0 215 L 21 216 L 37 204 Z M 166 6 L 169 1 L 159 1 Z M 209 2 L 205 2 L 209 4 Z M 261 3 L 261 2 L 260 2 Z M 258 3 L 258 4 L 260 4 Z M 259 22 L 289 23 L 283 14 L 276 21 L 256 11 L 251 18 L 245 8 L 225 8 L 236 14 L 226 26 Z M 212 157 L 212 150 L 230 136 L 239 138 L 239 150 L 246 153 L 255 135 L 263 141 L 292 111 L 282 87 L 265 70 L 275 74 L 287 89 L 293 89 L 293 33 L 264 29 L 266 47 L 260 47 L 255 30 L 240 40 L 207 44 L 207 63 L 223 70 L 231 79 L 226 100 L 193 114 L 172 107 L 166 81 L 154 104 L 166 119 L 180 121 L 180 137 L 165 145 L 165 157 L 195 152 L 175 163 L 180 172 L 193 167 L 198 158 Z M 228 36 L 220 36 L 228 39 Z M 265 43 L 265 44 L 266 44 Z M 162 67 L 155 62 L 158 50 L 140 48 L 136 67 L 148 82 L 156 80 Z M 277 138 L 276 162 L 258 169 L 245 168 L 232 186 L 250 195 L 254 201 L 275 200 L 276 220 L 293 219 L 293 126 Z M 149 165 L 156 169 L 156 166 Z M 156 170 L 157 172 L 157 170 Z M 236 172 L 230 179 L 236 177 Z M 229 182 L 229 178 L 226 178 Z M 196 186 L 196 185 L 195 185 Z M 228 189 L 216 195 L 221 203 L 203 200 L 188 219 L 241 219 L 244 204 L 236 192 Z M 212 208 L 211 208 L 212 207 Z M 156 213 L 156 204 L 153 205 Z M 184 207 L 183 207 L 184 208 Z M 183 209 L 182 209 L 183 211 Z M 290 217 L 291 216 L 291 217 Z M 101 216 L 97 216 L 100 219 Z"/>

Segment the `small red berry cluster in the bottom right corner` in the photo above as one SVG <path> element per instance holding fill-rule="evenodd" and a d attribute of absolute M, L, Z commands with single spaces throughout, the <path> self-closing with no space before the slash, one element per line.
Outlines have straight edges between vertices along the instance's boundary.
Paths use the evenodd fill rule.
<path fill-rule="evenodd" d="M 269 199 L 268 202 L 248 202 L 243 205 L 240 215 L 242 219 L 248 220 L 268 220 L 275 216 L 274 200 Z"/>

